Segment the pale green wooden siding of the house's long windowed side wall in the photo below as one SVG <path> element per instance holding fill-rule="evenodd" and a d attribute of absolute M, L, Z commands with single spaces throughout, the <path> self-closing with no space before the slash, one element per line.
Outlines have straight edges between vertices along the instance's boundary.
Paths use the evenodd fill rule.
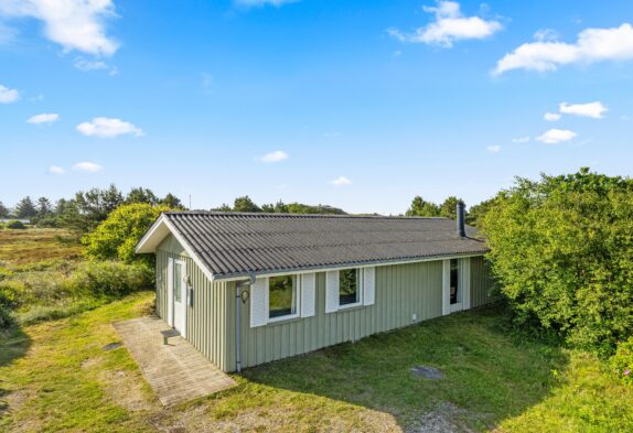
<path fill-rule="evenodd" d="M 234 293 L 235 283 L 228 284 Z M 235 308 L 228 296 L 227 308 Z M 412 314 L 417 317 L 414 321 Z M 249 304 L 242 306 L 243 367 L 305 354 L 325 346 L 357 340 L 442 314 L 442 262 L 376 268 L 376 302 L 325 313 L 325 273 L 316 273 L 315 314 L 312 317 L 250 327 Z M 235 366 L 235 325 L 229 325 L 228 365 Z"/>

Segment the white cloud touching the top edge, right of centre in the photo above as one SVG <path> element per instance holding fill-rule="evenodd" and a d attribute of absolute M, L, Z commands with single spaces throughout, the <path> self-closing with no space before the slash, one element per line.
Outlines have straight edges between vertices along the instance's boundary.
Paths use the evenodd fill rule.
<path fill-rule="evenodd" d="M 438 1 L 436 7 L 423 7 L 425 12 L 433 13 L 436 20 L 427 26 L 417 29 L 412 34 L 390 29 L 388 33 L 400 42 L 425 43 L 450 48 L 455 41 L 485 39 L 503 26 L 498 21 L 486 21 L 479 17 L 464 17 L 460 3 Z"/>

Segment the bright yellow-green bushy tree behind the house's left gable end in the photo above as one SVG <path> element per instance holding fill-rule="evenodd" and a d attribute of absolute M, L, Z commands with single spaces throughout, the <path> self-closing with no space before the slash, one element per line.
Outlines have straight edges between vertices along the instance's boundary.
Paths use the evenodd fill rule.
<path fill-rule="evenodd" d="M 147 203 L 121 205 L 82 238 L 86 255 L 93 260 L 120 260 L 151 264 L 153 258 L 137 256 L 135 248 L 162 212 L 174 210 L 168 206 Z"/>

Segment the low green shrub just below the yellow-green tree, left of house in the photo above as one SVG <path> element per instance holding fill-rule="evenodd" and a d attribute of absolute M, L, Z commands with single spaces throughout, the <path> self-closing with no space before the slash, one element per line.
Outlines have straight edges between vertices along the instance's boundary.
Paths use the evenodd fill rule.
<path fill-rule="evenodd" d="M 93 295 L 122 296 L 151 289 L 153 272 L 141 264 L 115 261 L 88 262 L 81 264 L 73 272 L 71 281 L 76 291 L 86 291 Z"/>

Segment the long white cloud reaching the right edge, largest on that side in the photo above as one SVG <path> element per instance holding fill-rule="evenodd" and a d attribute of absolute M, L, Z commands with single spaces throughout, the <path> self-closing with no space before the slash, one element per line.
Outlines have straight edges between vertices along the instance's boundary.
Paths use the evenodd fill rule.
<path fill-rule="evenodd" d="M 575 63 L 626 61 L 633 58 L 633 28 L 624 23 L 611 29 L 586 29 L 575 43 L 536 41 L 525 43 L 496 64 L 493 75 L 512 69 L 556 71 Z"/>

